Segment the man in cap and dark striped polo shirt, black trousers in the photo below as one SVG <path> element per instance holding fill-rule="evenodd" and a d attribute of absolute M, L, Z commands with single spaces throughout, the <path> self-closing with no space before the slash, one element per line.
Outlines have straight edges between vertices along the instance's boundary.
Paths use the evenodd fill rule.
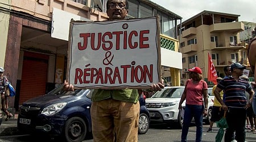
<path fill-rule="evenodd" d="M 245 69 L 245 66 L 238 62 L 233 63 L 230 66 L 231 76 L 218 82 L 214 90 L 215 97 L 221 103 L 222 109 L 226 111 L 228 128 L 224 137 L 225 141 L 245 141 L 246 109 L 251 106 L 254 91 L 246 80 L 240 78 L 243 69 Z M 222 90 L 226 94 L 225 103 L 220 96 Z M 249 101 L 246 100 L 245 91 L 250 94 Z M 236 135 L 234 135 L 234 132 L 236 132 Z"/>

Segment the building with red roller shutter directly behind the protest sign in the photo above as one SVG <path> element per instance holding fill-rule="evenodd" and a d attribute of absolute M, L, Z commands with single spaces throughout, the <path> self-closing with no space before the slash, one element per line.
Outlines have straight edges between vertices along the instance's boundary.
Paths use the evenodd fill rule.
<path fill-rule="evenodd" d="M 106 2 L 0 0 L 0 66 L 4 66 L 5 75 L 16 89 L 9 106 L 18 110 L 27 99 L 45 94 L 64 82 L 69 22 L 71 19 L 108 20 Z M 181 22 L 181 17 L 148 0 L 129 2 L 127 18 L 159 15 L 161 65 L 167 70 L 162 70 L 162 74 L 168 78 L 172 76 L 170 82 L 179 86 L 182 55 L 178 52 L 177 23 Z"/>

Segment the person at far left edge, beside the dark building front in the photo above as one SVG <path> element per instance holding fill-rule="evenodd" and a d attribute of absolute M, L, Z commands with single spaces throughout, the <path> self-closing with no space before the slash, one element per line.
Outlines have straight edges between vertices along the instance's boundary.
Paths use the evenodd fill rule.
<path fill-rule="evenodd" d="M 6 76 L 3 76 L 3 72 L 5 69 L 0 67 L 0 94 L 1 94 L 1 109 L 6 114 L 6 121 L 11 118 L 13 115 L 7 111 L 8 108 L 8 100 L 6 95 L 7 86 L 9 85 L 9 80 Z"/>

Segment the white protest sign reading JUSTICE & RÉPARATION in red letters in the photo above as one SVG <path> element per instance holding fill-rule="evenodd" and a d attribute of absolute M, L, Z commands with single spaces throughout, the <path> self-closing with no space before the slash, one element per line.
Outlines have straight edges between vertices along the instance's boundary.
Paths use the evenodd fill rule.
<path fill-rule="evenodd" d="M 67 78 L 90 89 L 148 88 L 160 81 L 159 18 L 71 22 Z"/>

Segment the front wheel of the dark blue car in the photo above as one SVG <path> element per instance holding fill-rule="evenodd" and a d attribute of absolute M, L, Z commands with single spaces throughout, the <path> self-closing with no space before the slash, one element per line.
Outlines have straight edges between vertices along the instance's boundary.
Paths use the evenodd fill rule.
<path fill-rule="evenodd" d="M 65 124 L 65 139 L 68 142 L 82 141 L 85 139 L 87 127 L 82 118 L 73 117 Z"/>

